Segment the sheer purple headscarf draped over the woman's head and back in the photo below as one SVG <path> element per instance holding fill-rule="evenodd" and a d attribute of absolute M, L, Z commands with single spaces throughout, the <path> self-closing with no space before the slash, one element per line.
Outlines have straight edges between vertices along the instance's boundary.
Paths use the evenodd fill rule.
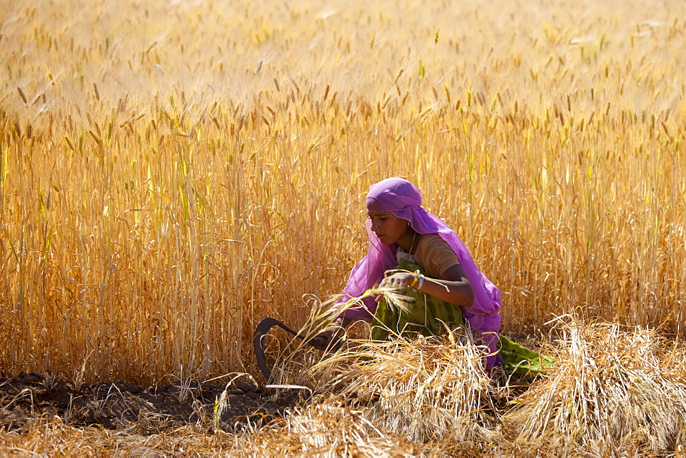
<path fill-rule="evenodd" d="M 484 343 L 490 348 L 492 355 L 487 358 L 488 366 L 492 367 L 501 363 L 500 355 L 496 354 L 500 330 L 500 291 L 476 267 L 458 234 L 441 219 L 427 213 L 427 210 L 421 206 L 422 196 L 419 190 L 414 184 L 402 178 L 387 178 L 377 184 L 372 184 L 369 187 L 366 204 L 370 211 L 390 211 L 399 218 L 407 219 L 412 229 L 419 234 L 438 233 L 448 243 L 460 259 L 460 264 L 474 291 L 474 303 L 460 307 L 462 316 L 473 330 L 482 334 Z M 369 237 L 367 256 L 353 267 L 348 283 L 343 289 L 343 296 L 338 303 L 362 296 L 364 291 L 381 281 L 383 272 L 397 265 L 395 253 L 398 245 L 383 245 L 379 237 L 372 232 L 370 220 L 366 222 L 365 227 Z M 375 300 L 365 298 L 364 306 L 353 306 L 341 315 L 351 320 L 370 322 L 376 309 Z"/>

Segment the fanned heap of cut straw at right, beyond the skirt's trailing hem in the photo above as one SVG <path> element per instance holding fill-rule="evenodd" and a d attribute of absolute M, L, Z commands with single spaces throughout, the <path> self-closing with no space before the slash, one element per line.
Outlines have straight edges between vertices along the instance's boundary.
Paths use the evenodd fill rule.
<path fill-rule="evenodd" d="M 504 418 L 515 441 L 555 454 L 674 450 L 686 425 L 683 352 L 646 328 L 576 320 L 562 326 L 549 377 Z"/>

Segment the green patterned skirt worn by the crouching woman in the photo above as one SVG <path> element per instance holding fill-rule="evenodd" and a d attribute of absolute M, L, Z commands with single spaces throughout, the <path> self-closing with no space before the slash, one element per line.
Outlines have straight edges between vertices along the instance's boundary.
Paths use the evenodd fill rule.
<path fill-rule="evenodd" d="M 410 261 L 402 261 L 394 270 L 418 270 L 420 274 L 425 274 L 419 265 Z M 377 304 L 372 321 L 373 340 L 387 340 L 389 337 L 410 338 L 418 334 L 425 337 L 442 335 L 447 332 L 446 328 L 457 334 L 465 333 L 466 326 L 459 306 L 410 288 L 404 295 L 410 298 L 409 311 L 392 306 L 385 299 Z M 535 378 L 554 363 L 553 359 L 541 357 L 502 335 L 498 348 L 504 361 L 502 369 L 508 375 Z"/>

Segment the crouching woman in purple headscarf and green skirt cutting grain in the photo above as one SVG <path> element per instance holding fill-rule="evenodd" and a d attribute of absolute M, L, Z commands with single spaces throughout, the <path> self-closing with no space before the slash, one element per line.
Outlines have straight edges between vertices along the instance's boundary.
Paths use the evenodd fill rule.
<path fill-rule="evenodd" d="M 367 255 L 353 267 L 337 303 L 340 306 L 379 284 L 411 287 L 416 291 L 410 293 L 415 299 L 412 309 L 397 311 L 382 297 L 365 298 L 342 311 L 333 326 L 317 337 L 323 337 L 319 339 L 322 347 L 335 346 L 344 328 L 357 320 L 372 323 L 374 339 L 388 337 L 390 332 L 436 335 L 445 326 L 458 328 L 466 320 L 475 340 L 490 350 L 486 365 L 501 365 L 500 291 L 480 272 L 458 235 L 421 204 L 421 193 L 407 180 L 388 178 L 370 186 L 366 198 Z M 507 339 L 504 343 L 504 350 L 520 353 L 517 361 L 538 363 L 535 353 L 517 344 L 512 347 Z"/>

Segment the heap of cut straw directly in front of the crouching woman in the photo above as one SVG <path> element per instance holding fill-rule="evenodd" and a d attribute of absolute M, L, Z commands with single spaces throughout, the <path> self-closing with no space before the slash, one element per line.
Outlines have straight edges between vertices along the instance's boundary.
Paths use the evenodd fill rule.
<path fill-rule="evenodd" d="M 457 335 L 362 341 L 312 368 L 318 389 L 364 406 L 381 431 L 413 442 L 492 442 L 497 413 L 482 349 Z"/>

